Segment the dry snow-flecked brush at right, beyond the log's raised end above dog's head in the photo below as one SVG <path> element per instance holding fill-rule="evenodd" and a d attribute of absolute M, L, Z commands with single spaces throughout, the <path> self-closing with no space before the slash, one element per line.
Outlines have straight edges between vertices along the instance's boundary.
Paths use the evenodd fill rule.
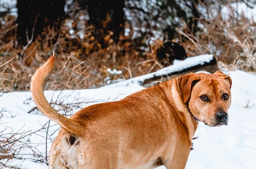
<path fill-rule="evenodd" d="M 214 54 L 219 68 L 225 70 L 256 71 L 256 23 L 232 6 L 228 16 L 218 14 L 202 21 L 204 31 L 199 34 L 201 49 Z"/>

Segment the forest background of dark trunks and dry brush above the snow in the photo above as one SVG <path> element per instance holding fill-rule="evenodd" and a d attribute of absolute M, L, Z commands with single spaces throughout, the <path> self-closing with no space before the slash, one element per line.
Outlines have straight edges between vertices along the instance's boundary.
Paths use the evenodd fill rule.
<path fill-rule="evenodd" d="M 0 92 L 28 91 L 31 75 L 53 52 L 58 64 L 46 89 L 97 88 L 147 74 L 171 64 L 156 54 L 166 41 L 188 57 L 213 54 L 219 69 L 255 72 L 255 4 L 3 0 Z"/>

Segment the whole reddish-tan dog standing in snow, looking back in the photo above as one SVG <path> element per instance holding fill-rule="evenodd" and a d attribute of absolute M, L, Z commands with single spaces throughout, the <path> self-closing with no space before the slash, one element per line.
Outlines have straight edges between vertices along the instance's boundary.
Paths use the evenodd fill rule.
<path fill-rule="evenodd" d="M 51 57 L 33 75 L 31 91 L 42 114 L 62 129 L 50 150 L 49 168 L 184 168 L 198 121 L 228 124 L 229 76 L 189 73 L 126 98 L 85 107 L 70 119 L 43 95 Z"/>

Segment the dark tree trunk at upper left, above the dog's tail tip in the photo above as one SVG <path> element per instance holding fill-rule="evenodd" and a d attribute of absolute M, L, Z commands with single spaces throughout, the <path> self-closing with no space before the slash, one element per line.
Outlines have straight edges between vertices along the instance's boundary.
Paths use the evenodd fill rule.
<path fill-rule="evenodd" d="M 58 30 L 65 17 L 65 3 L 65 0 L 18 0 L 18 44 L 26 45 L 28 40 L 35 40 L 48 26 Z"/>

